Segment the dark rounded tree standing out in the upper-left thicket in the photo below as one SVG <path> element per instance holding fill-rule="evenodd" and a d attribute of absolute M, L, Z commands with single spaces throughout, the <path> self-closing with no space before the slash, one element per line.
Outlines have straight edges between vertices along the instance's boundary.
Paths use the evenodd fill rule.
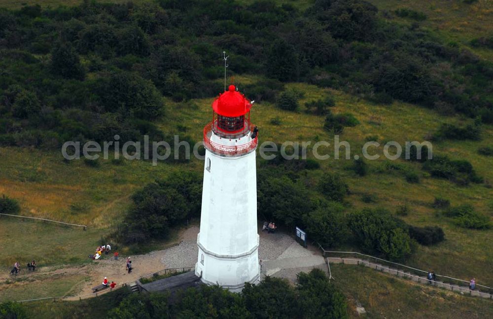
<path fill-rule="evenodd" d="M 51 72 L 64 78 L 84 79 L 79 55 L 70 43 L 62 43 L 51 52 Z"/>

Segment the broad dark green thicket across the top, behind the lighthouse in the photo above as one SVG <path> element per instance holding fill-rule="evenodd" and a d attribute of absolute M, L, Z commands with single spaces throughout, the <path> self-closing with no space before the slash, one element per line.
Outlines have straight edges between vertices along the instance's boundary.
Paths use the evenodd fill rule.
<path fill-rule="evenodd" d="M 166 116 L 163 96 L 216 95 L 223 49 L 231 72 L 272 79 L 245 88 L 260 102 L 296 80 L 493 122 L 490 62 L 377 12 L 361 0 L 317 0 L 305 12 L 263 0 L 1 10 L 0 145 L 162 138 L 148 121 Z"/>

